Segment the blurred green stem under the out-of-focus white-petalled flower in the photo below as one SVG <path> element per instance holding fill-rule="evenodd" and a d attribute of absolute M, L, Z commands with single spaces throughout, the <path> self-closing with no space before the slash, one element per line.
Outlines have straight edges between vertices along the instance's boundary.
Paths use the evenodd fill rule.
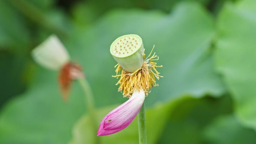
<path fill-rule="evenodd" d="M 92 94 L 91 87 L 88 81 L 84 78 L 78 79 L 78 82 L 81 85 L 83 92 L 85 92 L 85 104 L 88 110 L 90 121 L 92 122 L 93 134 L 95 136 L 95 144 L 99 144 L 99 139 L 97 137 L 97 119 L 94 110 L 94 96 Z"/>

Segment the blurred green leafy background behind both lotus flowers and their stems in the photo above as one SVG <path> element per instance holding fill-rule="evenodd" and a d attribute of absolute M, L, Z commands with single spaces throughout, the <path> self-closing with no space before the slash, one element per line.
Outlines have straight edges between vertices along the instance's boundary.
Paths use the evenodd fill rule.
<path fill-rule="evenodd" d="M 98 123 L 127 100 L 109 47 L 138 34 L 164 65 L 145 100 L 149 144 L 256 143 L 255 0 L 1 0 L 1 144 L 93 143 L 78 83 L 63 102 L 58 73 L 31 58 L 53 33 L 82 65 Z M 138 143 L 137 120 L 100 142 Z"/>

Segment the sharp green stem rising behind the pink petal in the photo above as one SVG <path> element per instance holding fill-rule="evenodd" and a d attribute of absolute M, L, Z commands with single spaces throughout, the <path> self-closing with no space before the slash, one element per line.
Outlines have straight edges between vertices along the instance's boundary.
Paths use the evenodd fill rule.
<path fill-rule="evenodd" d="M 145 102 L 143 102 L 140 112 L 138 113 L 138 134 L 139 144 L 147 144 L 147 128 L 145 117 Z"/>

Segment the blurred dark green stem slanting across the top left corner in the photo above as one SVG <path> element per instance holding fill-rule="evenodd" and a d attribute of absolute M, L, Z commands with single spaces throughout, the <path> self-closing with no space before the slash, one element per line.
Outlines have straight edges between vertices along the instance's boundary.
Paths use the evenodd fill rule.
<path fill-rule="evenodd" d="M 27 0 L 6 0 L 12 6 L 16 7 L 23 15 L 36 22 L 41 27 L 57 34 L 58 36 L 67 36 L 67 31 L 60 28 L 59 25 L 49 19 L 48 15 L 42 10 L 28 2 Z"/>

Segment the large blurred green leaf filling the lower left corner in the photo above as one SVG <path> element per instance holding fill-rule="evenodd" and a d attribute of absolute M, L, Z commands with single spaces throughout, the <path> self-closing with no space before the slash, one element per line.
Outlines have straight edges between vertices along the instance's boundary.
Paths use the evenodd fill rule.
<path fill-rule="evenodd" d="M 0 116 L 0 143 L 63 144 L 74 122 L 84 113 L 83 93 L 73 85 L 70 101 L 61 99 L 57 74 L 37 69 L 30 89 L 10 101 Z"/>

